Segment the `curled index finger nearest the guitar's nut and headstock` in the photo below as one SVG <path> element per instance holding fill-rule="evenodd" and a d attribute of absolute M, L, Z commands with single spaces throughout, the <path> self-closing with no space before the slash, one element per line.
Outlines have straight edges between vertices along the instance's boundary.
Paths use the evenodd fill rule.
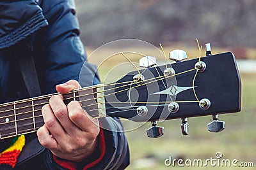
<path fill-rule="evenodd" d="M 77 127 L 85 132 L 90 131 L 91 127 L 96 125 L 99 127 L 99 121 L 90 117 L 77 101 L 68 103 L 68 117 Z"/>

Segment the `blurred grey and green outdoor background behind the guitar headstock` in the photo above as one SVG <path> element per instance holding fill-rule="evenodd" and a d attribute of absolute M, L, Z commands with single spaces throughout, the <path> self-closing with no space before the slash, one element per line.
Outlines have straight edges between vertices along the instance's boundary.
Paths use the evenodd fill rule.
<path fill-rule="evenodd" d="M 100 45 L 123 38 L 141 39 L 157 47 L 161 43 L 166 54 L 180 48 L 188 53 L 189 59 L 198 57 L 198 38 L 203 45 L 203 55 L 205 43 L 211 43 L 212 53 L 232 51 L 236 55 L 242 80 L 242 111 L 220 115 L 220 120 L 226 121 L 225 131 L 217 134 L 207 132 L 211 117 L 197 117 L 189 118 L 190 134 L 182 136 L 180 120 L 168 120 L 159 124 L 164 126 L 164 136 L 150 139 L 146 134 L 150 127 L 147 123 L 126 133 L 131 150 L 131 165 L 127 169 L 181 169 L 183 167 L 164 166 L 164 160 L 170 156 L 173 159 L 204 160 L 215 158 L 216 152 L 221 152 L 223 159 L 253 162 L 255 169 L 255 0 L 76 0 L 76 5 L 81 39 L 88 55 Z M 104 52 L 90 61 L 99 65 L 103 55 Z M 133 58 L 137 62 L 138 59 Z M 163 59 L 161 56 L 157 58 L 160 62 Z M 114 66 L 115 62 L 106 65 L 99 74 L 106 74 L 111 64 Z M 116 78 L 119 77 L 116 73 Z"/>

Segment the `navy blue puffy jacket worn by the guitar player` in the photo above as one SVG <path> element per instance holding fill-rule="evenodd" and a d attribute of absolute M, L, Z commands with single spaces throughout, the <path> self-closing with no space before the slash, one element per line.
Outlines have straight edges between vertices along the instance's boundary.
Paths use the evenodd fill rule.
<path fill-rule="evenodd" d="M 0 1 L 0 103 L 29 97 L 17 62 L 17 57 L 22 57 L 20 48 L 27 48 L 33 56 L 42 94 L 55 92 L 59 83 L 78 80 L 86 55 L 75 13 L 72 0 Z M 92 68 L 88 65 L 88 74 L 93 73 Z M 93 83 L 97 82 L 95 79 Z M 81 83 L 88 85 L 86 81 Z M 104 155 L 99 159 L 99 148 L 88 159 L 76 163 L 76 169 L 124 169 L 129 165 L 122 125 L 113 118 L 102 119 L 101 123 L 113 129 L 102 130 Z M 0 149 L 8 142 L 0 141 Z M 38 143 L 35 134 L 29 134 L 15 169 L 71 169 L 70 164 L 74 162 L 54 158 Z"/>

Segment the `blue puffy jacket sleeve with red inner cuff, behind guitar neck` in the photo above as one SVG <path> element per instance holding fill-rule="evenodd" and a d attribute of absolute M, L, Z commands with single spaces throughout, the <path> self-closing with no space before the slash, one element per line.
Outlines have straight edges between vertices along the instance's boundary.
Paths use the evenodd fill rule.
<path fill-rule="evenodd" d="M 49 25 L 35 35 L 35 64 L 43 94 L 55 92 L 55 86 L 70 79 L 78 80 L 86 55 L 79 39 L 79 25 L 72 7 L 73 1 L 41 1 L 40 6 Z M 88 74 L 93 67 L 88 67 Z M 92 78 L 94 75 L 92 75 Z M 88 78 L 88 79 L 92 79 Z M 92 80 L 84 80 L 92 81 Z M 93 83 L 99 83 L 97 76 Z M 87 82 L 82 82 L 88 85 Z M 89 83 L 90 84 L 90 83 Z M 124 169 L 129 165 L 129 148 L 116 118 L 100 119 L 109 130 L 100 129 L 98 149 L 79 163 L 60 159 L 47 152 L 48 169 Z"/>

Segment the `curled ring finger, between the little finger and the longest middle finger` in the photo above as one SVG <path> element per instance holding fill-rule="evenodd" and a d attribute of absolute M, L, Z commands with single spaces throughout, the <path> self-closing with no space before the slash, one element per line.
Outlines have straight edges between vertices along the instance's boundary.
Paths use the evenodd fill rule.
<path fill-rule="evenodd" d="M 47 127 L 52 136 L 58 141 L 58 138 L 65 137 L 65 131 L 61 127 L 60 122 L 58 122 L 55 117 L 50 104 L 45 104 L 42 107 L 42 115 L 44 118 L 44 125 Z"/>

